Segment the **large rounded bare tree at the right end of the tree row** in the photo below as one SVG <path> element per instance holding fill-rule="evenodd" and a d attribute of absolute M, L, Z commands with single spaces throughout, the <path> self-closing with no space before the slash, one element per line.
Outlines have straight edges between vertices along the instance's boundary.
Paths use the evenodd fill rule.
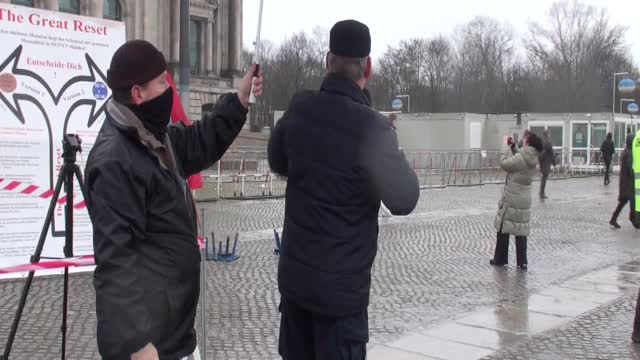
<path fill-rule="evenodd" d="M 612 25 L 606 10 L 578 1 L 557 2 L 547 22 L 531 23 L 525 42 L 534 67 L 546 80 L 551 111 L 599 111 L 607 107 L 612 74 L 633 67 L 626 28 Z M 610 106 L 608 106 L 610 108 Z"/>

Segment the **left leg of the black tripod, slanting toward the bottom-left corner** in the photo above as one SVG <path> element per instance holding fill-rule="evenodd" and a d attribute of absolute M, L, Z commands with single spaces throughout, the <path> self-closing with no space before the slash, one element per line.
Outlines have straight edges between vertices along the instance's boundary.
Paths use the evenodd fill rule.
<path fill-rule="evenodd" d="M 31 256 L 31 262 L 36 263 L 40 261 L 40 255 L 42 254 L 42 249 L 44 248 L 44 241 L 47 238 L 47 233 L 49 232 L 49 226 L 51 225 L 51 220 L 53 219 L 53 211 L 56 208 L 56 204 L 58 202 L 58 197 L 60 196 L 60 190 L 62 189 L 62 184 L 64 183 L 64 173 L 61 173 L 58 177 L 58 181 L 56 182 L 56 187 L 53 192 L 53 197 L 51 198 L 51 202 L 49 203 L 49 210 L 47 211 L 47 217 L 44 220 L 44 224 L 42 226 L 42 232 L 40 233 L 40 239 L 38 239 L 38 245 L 36 246 L 36 252 Z M 11 353 L 11 348 L 13 347 L 13 341 L 16 338 L 16 334 L 18 333 L 18 326 L 20 325 L 20 319 L 22 318 L 22 312 L 24 311 L 24 306 L 27 303 L 27 296 L 29 295 L 29 290 L 31 289 L 31 283 L 33 282 L 34 271 L 29 272 L 29 276 L 24 283 L 24 287 L 22 288 L 22 295 L 20 295 L 20 302 L 18 303 L 18 309 L 16 310 L 16 316 L 13 319 L 13 324 L 11 325 L 11 332 L 9 333 L 9 338 L 7 339 L 7 344 L 4 347 L 4 354 L 2 355 L 2 360 L 9 360 L 9 354 Z"/>

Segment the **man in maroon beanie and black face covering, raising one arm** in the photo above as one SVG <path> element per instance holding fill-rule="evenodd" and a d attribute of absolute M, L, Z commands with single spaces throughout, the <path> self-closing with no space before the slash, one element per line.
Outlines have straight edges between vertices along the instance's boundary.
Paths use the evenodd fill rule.
<path fill-rule="evenodd" d="M 113 98 L 86 167 L 103 359 L 182 359 L 196 349 L 200 252 L 185 179 L 213 165 L 246 121 L 249 70 L 236 94 L 190 127 L 167 127 L 164 56 L 134 40 L 111 60 Z M 254 94 L 259 96 L 259 77 Z"/>

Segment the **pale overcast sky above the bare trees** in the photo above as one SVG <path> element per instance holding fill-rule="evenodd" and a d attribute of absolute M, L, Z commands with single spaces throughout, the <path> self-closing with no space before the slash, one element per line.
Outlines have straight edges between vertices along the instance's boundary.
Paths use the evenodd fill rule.
<path fill-rule="evenodd" d="M 330 29 L 339 20 L 356 19 L 367 24 L 372 37 L 372 56 L 379 57 L 388 45 L 414 37 L 450 35 L 477 15 L 508 21 L 516 39 L 527 33 L 530 21 L 544 21 L 553 0 L 264 0 L 262 38 L 276 44 L 314 26 Z M 640 64 L 640 1 L 582 0 L 604 7 L 612 21 L 629 28 L 627 43 L 634 61 Z M 244 0 L 244 46 L 256 37 L 260 0 Z M 635 21 L 634 21 L 635 20 Z M 374 59 L 375 60 L 375 59 Z M 624 70 L 624 69 L 621 69 Z"/>

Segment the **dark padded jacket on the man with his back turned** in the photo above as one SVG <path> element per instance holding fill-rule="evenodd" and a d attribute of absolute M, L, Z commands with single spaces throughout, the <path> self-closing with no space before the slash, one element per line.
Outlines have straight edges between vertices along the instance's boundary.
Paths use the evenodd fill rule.
<path fill-rule="evenodd" d="M 418 201 L 415 173 L 386 118 L 356 83 L 328 75 L 291 100 L 269 140 L 287 176 L 280 293 L 317 313 L 366 309 L 382 201 L 395 215 Z"/>

